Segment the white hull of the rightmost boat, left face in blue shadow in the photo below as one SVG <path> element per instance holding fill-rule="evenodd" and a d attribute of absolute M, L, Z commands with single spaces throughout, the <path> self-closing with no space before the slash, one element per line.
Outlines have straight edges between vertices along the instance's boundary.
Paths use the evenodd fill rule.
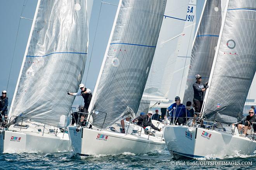
<path fill-rule="evenodd" d="M 252 155 L 256 141 L 223 131 L 190 128 L 188 126 L 164 126 L 164 139 L 170 153 L 175 157 L 223 158 L 237 153 Z M 208 134 L 207 134 L 208 133 Z"/>

